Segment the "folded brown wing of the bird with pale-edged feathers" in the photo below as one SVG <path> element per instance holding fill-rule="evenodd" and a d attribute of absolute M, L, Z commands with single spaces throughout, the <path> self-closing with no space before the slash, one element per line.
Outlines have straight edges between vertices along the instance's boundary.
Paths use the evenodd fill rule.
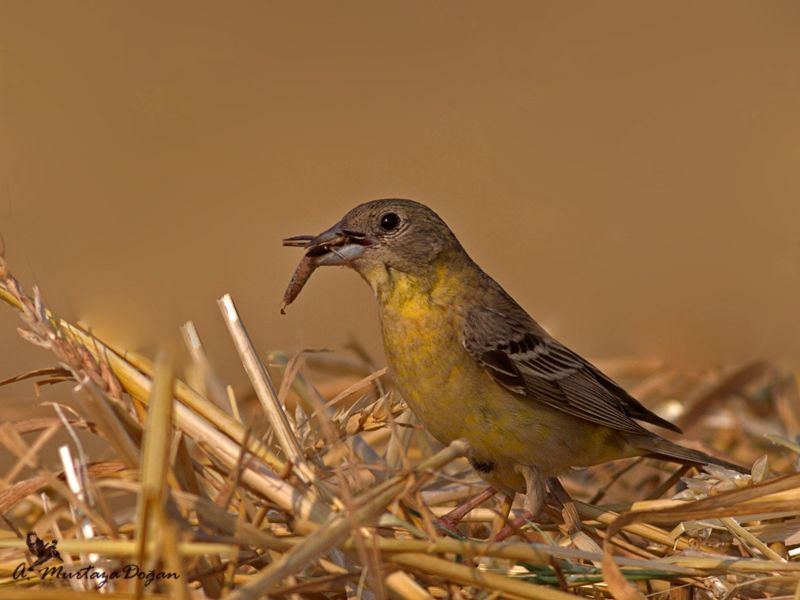
<path fill-rule="evenodd" d="M 464 325 L 467 352 L 501 385 L 612 429 L 646 433 L 634 419 L 680 431 L 652 413 L 589 361 L 551 338 L 526 314 L 473 308 Z"/>

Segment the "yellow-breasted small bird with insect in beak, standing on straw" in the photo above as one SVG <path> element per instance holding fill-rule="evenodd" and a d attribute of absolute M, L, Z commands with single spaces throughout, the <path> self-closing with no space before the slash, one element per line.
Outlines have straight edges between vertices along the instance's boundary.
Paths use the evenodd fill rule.
<path fill-rule="evenodd" d="M 378 301 L 389 370 L 411 410 L 443 444 L 466 439 L 480 476 L 525 494 L 534 515 L 546 482 L 573 467 L 651 456 L 742 470 L 640 425 L 680 432 L 547 333 L 419 202 L 366 202 L 284 244 L 306 248 L 284 307 L 316 267 L 354 269 Z"/>

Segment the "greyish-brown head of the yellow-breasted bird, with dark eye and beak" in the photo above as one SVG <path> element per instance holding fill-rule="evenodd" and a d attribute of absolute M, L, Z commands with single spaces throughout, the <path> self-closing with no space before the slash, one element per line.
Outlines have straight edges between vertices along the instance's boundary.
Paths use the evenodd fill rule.
<path fill-rule="evenodd" d="M 423 276 L 443 252 L 461 251 L 439 215 L 399 199 L 365 202 L 319 235 L 288 238 L 284 245 L 305 247 L 315 266 L 347 265 L 367 280 L 388 269 Z"/>

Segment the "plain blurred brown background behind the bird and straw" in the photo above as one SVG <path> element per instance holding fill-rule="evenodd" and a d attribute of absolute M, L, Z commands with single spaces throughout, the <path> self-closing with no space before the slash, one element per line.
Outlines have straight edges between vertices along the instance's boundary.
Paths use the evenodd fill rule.
<path fill-rule="evenodd" d="M 800 3 L 0 3 L 0 231 L 62 316 L 150 353 L 198 326 L 380 359 L 297 250 L 412 197 L 592 357 L 800 363 Z M 536 278 L 533 275 L 536 274 Z M 0 307 L 0 379 L 52 359 Z M 30 387 L 0 390 L 30 398 Z"/>

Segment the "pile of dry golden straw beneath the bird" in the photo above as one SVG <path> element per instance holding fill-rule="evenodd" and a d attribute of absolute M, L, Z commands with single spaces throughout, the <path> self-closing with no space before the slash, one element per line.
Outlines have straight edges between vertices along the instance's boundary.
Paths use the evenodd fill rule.
<path fill-rule="evenodd" d="M 435 445 L 366 361 L 276 353 L 268 370 L 224 297 L 256 418 L 214 376 L 191 324 L 201 376 L 189 385 L 168 359 L 59 319 L 2 258 L 0 298 L 22 337 L 55 357 L 13 380 L 71 382 L 76 406 L 0 423 L 13 458 L 1 475 L 0 598 L 800 599 L 800 399 L 795 376 L 770 365 L 692 375 L 604 364 L 752 475 L 602 465 L 565 478 L 574 500 L 552 498 L 538 523 L 492 542 L 497 499 L 437 531 L 480 482 L 463 444 Z M 54 468 L 39 455 L 62 430 L 71 441 Z M 88 438 L 102 451 L 85 450 Z"/>

